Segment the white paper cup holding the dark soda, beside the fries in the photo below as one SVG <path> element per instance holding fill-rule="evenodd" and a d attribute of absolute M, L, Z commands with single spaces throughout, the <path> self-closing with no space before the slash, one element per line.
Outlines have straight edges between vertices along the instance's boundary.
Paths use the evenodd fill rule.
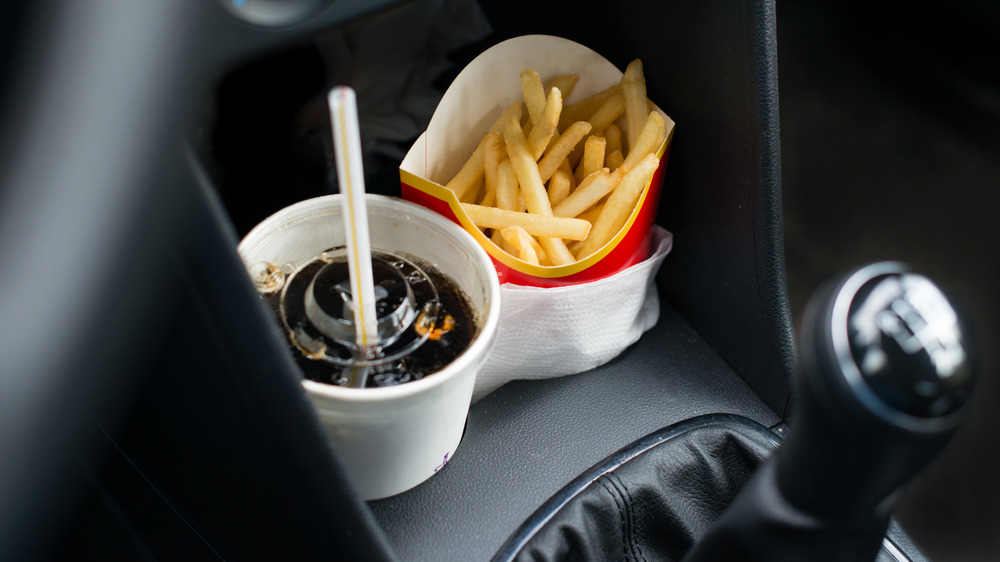
<path fill-rule="evenodd" d="M 455 455 L 476 373 L 494 341 L 500 287 L 489 256 L 465 230 L 424 207 L 368 195 L 372 248 L 435 266 L 469 298 L 479 327 L 469 348 L 441 371 L 381 388 L 344 388 L 309 380 L 312 398 L 362 497 L 378 499 L 427 480 Z M 247 268 L 268 262 L 286 272 L 344 244 L 341 198 L 287 207 L 240 242 Z"/>

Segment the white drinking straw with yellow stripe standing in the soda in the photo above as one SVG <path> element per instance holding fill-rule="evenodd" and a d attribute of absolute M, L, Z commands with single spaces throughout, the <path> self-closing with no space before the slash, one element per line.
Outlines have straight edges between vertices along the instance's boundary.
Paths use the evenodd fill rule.
<path fill-rule="evenodd" d="M 372 276 L 372 246 L 368 235 L 368 205 L 365 202 L 365 175 L 361 164 L 361 133 L 358 103 L 354 90 L 338 86 L 327 97 L 333 124 L 333 147 L 337 180 L 344 199 L 344 233 L 347 239 L 347 266 L 354 298 L 356 341 L 362 349 L 379 342 L 375 312 L 375 280 Z"/>

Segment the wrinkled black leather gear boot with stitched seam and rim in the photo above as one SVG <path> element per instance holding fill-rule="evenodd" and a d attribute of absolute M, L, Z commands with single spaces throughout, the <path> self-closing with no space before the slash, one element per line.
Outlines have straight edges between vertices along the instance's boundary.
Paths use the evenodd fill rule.
<path fill-rule="evenodd" d="M 494 562 L 679 562 L 777 441 L 764 426 L 725 415 L 647 435 L 553 496 Z"/>

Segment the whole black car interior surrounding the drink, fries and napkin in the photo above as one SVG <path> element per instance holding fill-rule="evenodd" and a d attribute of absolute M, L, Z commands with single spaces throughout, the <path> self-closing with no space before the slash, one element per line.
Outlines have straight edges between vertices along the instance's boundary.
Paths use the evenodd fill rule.
<path fill-rule="evenodd" d="M 998 29 L 985 0 L 8 3 L 0 560 L 1000 559 Z M 399 196 L 458 72 L 530 34 L 641 58 L 677 124 L 659 319 L 364 501 L 237 245 L 337 193 L 330 88 Z"/>

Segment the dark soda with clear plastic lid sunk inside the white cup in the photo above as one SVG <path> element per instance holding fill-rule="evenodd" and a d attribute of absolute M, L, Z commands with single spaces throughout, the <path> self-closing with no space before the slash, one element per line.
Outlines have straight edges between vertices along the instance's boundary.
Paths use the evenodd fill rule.
<path fill-rule="evenodd" d="M 372 252 L 377 345 L 354 342 L 343 248 L 331 248 L 262 294 L 306 379 L 382 387 L 422 379 L 461 355 L 477 332 L 469 298 L 437 268 L 412 256 Z"/>

